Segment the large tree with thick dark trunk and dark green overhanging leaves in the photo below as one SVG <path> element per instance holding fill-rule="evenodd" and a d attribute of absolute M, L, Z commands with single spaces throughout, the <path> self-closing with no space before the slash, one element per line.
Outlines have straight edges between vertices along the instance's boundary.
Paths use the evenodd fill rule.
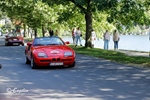
<path fill-rule="evenodd" d="M 94 12 L 106 13 L 107 20 L 117 27 L 121 25 L 133 26 L 134 23 L 142 24 L 142 19 L 145 17 L 145 1 L 142 2 L 142 0 L 43 0 L 43 2 L 47 2 L 49 6 L 74 4 L 74 7 L 84 14 L 86 22 L 85 47 L 92 47 L 91 31 Z M 70 13 L 70 9 L 68 9 L 68 13 Z M 139 20 L 135 18 L 137 15 Z"/>

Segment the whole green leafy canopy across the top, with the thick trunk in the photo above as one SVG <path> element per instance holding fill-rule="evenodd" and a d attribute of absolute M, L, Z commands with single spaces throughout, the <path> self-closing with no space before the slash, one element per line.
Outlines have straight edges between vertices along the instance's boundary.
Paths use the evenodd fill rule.
<path fill-rule="evenodd" d="M 0 8 L 13 20 L 37 29 L 80 26 L 85 47 L 91 47 L 91 31 L 130 29 L 150 24 L 149 0 L 1 0 Z"/>

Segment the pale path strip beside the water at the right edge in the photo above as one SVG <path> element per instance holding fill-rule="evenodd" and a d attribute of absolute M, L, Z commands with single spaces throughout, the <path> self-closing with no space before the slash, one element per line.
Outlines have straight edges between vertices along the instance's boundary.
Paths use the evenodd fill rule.
<path fill-rule="evenodd" d="M 142 51 L 131 51 L 131 50 L 117 50 L 118 52 L 125 53 L 128 56 L 142 56 L 142 57 L 149 57 L 149 52 L 142 52 Z"/>

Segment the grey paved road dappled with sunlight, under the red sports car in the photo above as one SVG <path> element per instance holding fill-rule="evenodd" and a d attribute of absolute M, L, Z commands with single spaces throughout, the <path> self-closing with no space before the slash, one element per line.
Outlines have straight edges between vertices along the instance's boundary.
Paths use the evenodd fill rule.
<path fill-rule="evenodd" d="M 150 100 L 150 70 L 77 54 L 75 68 L 32 70 L 0 46 L 0 100 Z"/>

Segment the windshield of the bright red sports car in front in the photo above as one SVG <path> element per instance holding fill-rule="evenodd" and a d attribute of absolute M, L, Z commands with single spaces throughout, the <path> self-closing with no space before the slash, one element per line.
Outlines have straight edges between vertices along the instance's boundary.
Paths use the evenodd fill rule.
<path fill-rule="evenodd" d="M 58 37 L 36 38 L 33 43 L 34 46 L 47 45 L 64 45 L 64 42 Z"/>

